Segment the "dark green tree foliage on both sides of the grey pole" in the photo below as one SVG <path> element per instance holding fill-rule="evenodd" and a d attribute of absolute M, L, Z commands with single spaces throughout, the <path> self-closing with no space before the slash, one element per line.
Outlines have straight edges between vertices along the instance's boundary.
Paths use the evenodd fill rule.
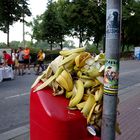
<path fill-rule="evenodd" d="M 122 41 L 124 45 L 140 43 L 140 1 L 122 1 Z M 36 40 L 64 45 L 65 36 L 79 38 L 79 45 L 92 41 L 98 47 L 105 35 L 106 0 L 49 0 L 41 19 L 36 18 Z M 123 45 L 123 46 L 124 46 Z M 61 47 L 62 48 L 62 47 Z"/>

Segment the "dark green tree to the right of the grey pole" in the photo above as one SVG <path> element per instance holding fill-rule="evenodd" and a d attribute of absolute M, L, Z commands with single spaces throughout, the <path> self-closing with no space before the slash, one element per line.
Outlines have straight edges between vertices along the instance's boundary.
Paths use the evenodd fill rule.
<path fill-rule="evenodd" d="M 125 45 L 140 45 L 140 1 L 123 1 L 122 12 L 122 52 Z"/>

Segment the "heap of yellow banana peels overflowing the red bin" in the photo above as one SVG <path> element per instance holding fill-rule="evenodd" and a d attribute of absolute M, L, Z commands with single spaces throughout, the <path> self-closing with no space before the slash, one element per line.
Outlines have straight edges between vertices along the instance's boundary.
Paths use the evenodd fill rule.
<path fill-rule="evenodd" d="M 79 109 L 92 125 L 101 131 L 103 109 L 103 75 L 105 55 L 93 57 L 84 48 L 62 50 L 32 87 L 39 81 L 34 92 L 50 86 L 54 95 L 64 95 L 69 99 L 69 109 Z M 118 133 L 120 130 L 118 128 Z"/>

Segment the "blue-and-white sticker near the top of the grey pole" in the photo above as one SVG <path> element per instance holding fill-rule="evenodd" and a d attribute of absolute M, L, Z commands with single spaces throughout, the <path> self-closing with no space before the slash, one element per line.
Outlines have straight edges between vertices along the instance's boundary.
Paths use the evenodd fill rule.
<path fill-rule="evenodd" d="M 120 33 L 120 14 L 117 9 L 107 10 L 106 38 L 117 39 Z"/>

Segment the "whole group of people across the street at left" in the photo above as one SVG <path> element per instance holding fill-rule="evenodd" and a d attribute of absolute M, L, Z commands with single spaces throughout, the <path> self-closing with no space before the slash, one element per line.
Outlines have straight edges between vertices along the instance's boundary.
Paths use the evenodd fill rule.
<path fill-rule="evenodd" d="M 44 60 L 45 60 L 45 53 L 43 50 L 39 50 L 36 62 L 38 64 L 36 75 L 39 75 L 40 68 L 42 71 L 44 70 Z M 7 53 L 7 51 L 3 51 L 3 63 L 1 66 L 10 66 L 14 70 L 15 75 L 24 75 L 30 74 L 30 63 L 31 62 L 31 55 L 30 49 L 28 47 L 22 48 L 19 47 L 18 49 L 13 49 L 11 54 Z"/>

